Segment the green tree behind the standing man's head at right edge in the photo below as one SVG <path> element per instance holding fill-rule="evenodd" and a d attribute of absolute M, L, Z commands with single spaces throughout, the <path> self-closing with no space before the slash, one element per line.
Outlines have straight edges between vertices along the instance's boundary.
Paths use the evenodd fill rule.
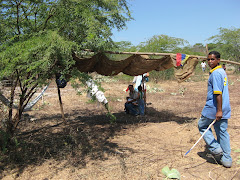
<path fill-rule="evenodd" d="M 233 61 L 240 61 L 240 29 L 237 28 L 220 28 L 219 34 L 210 37 L 215 47 L 213 50 L 221 52 L 222 58 Z"/>

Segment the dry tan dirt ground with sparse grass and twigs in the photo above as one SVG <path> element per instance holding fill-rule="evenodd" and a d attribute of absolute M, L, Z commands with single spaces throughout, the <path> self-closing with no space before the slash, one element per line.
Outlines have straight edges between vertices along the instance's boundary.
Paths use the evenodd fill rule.
<path fill-rule="evenodd" d="M 205 104 L 208 74 L 187 82 L 148 83 L 146 115 L 124 113 L 130 82 L 102 82 L 116 123 L 106 110 L 67 85 L 61 90 L 67 124 L 61 118 L 56 85 L 25 113 L 18 130 L 18 147 L 0 159 L 0 179 L 164 179 L 161 170 L 175 168 L 184 180 L 240 179 L 240 77 L 229 72 L 233 166 L 224 168 L 198 140 L 197 121 Z"/>

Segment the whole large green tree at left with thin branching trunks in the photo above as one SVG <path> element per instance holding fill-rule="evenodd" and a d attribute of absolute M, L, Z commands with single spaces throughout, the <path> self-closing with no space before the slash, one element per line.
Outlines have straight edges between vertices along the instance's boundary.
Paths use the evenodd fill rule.
<path fill-rule="evenodd" d="M 1 0 L 0 14 L 0 80 L 13 81 L 7 123 L 11 135 L 37 87 L 56 73 L 83 80 L 85 74 L 72 69 L 72 54 L 111 47 L 112 28 L 120 30 L 131 19 L 126 0 Z M 17 85 L 19 104 L 13 116 Z"/>

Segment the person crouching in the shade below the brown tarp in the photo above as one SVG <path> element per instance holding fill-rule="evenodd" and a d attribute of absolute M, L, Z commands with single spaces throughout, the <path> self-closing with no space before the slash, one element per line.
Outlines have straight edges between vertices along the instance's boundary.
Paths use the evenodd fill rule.
<path fill-rule="evenodd" d="M 129 85 L 128 89 L 129 89 L 129 97 L 127 97 L 127 102 L 125 103 L 125 112 L 127 114 L 132 114 L 136 116 L 138 115 L 138 111 L 137 111 L 138 92 L 134 90 L 133 85 Z"/>

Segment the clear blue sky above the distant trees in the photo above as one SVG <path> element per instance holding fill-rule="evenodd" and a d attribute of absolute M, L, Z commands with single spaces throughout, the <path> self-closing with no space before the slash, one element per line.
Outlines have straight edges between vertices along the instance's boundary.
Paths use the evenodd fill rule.
<path fill-rule="evenodd" d="M 113 30 L 112 39 L 145 42 L 154 35 L 207 44 L 219 28 L 240 28 L 240 0 L 128 0 L 134 20 Z"/>

